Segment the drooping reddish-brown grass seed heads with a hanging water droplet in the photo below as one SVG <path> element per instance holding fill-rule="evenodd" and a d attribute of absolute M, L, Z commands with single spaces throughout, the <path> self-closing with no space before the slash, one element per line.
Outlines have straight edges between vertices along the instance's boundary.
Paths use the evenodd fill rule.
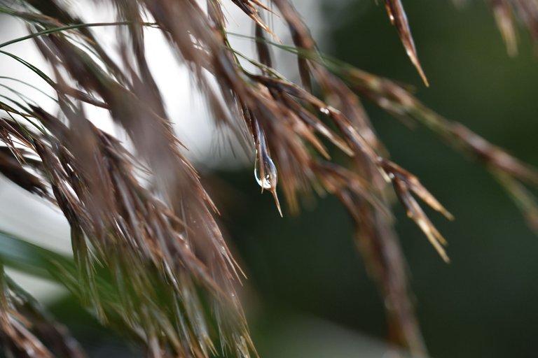
<path fill-rule="evenodd" d="M 304 195 L 329 193 L 340 199 L 387 303 L 392 338 L 414 355 L 424 355 L 426 348 L 392 229 L 391 192 L 446 261 L 446 241 L 417 198 L 452 216 L 418 178 L 389 160 L 361 99 L 425 125 L 483 163 L 538 226 L 538 209 L 525 187 L 538 184 L 535 169 L 437 115 L 393 81 L 320 54 L 288 0 L 231 1 L 255 24 L 251 39 L 257 59 L 231 47 L 228 36 L 236 35 L 226 30 L 221 0 L 207 0 L 203 8 L 195 0 L 109 2 L 116 8 L 116 22 L 84 23 L 60 1 L 0 1 L 0 13 L 17 17 L 31 31 L 0 44 L 0 55 L 52 87 L 58 108 L 56 115 L 48 113 L 15 90 L 1 97 L 0 173 L 60 208 L 71 227 L 74 259 L 25 246 L 39 255 L 39 262 L 49 263 L 37 266 L 69 288 L 100 322 L 142 345 L 149 357 L 207 358 L 218 354 L 217 343 L 222 352 L 238 357 L 255 357 L 256 351 L 235 290 L 242 273 L 216 223 L 214 204 L 181 153 L 149 71 L 146 27 L 163 32 L 205 93 L 214 119 L 232 129 L 245 150 L 256 152 L 258 182 L 273 194 L 281 215 L 277 187 L 291 211 L 298 210 Z M 513 54 L 513 13 L 534 34 L 537 3 L 491 4 Z M 427 85 L 401 1 L 385 0 L 385 6 Z M 276 38 L 263 13 L 282 18 L 293 45 Z M 119 62 L 92 34 L 92 27 L 103 26 L 118 30 Z M 34 41 L 52 74 L 4 50 L 26 40 Z M 272 47 L 297 55 L 300 84 L 275 70 Z M 256 73 L 244 69 L 241 59 L 254 64 Z M 1 77 L 0 84 L 9 88 L 13 80 L 18 79 Z M 108 110 L 134 152 L 95 127 L 85 105 Z M 333 150 L 347 161 L 333 161 Z M 0 234 L 6 242 L 15 240 Z M 9 250 L 0 254 L 4 262 L 24 266 Z M 0 340 L 8 357 L 83 357 L 64 329 L 6 275 L 0 287 Z"/>

